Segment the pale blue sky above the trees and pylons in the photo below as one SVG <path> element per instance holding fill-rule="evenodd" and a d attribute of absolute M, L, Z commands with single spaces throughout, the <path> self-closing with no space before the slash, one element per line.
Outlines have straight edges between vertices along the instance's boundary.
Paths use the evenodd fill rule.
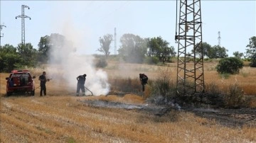
<path fill-rule="evenodd" d="M 26 42 L 38 49 L 41 37 L 60 33 L 75 42 L 80 54 L 101 54 L 99 38 L 125 33 L 142 38 L 161 36 L 177 50 L 176 1 L 0 1 L 1 45 L 15 47 L 21 42 L 21 5 L 25 8 Z M 233 52 L 245 52 L 249 38 L 256 36 L 256 1 L 201 1 L 203 42 L 220 45 Z M 114 54 L 114 42 L 110 48 Z"/>

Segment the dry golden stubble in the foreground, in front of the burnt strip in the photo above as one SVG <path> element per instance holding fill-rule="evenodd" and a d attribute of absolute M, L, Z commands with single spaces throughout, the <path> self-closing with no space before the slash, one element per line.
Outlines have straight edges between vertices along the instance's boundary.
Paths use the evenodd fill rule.
<path fill-rule="evenodd" d="M 133 96 L 79 101 L 66 95 L 1 97 L 1 142 L 256 142 L 253 127 L 223 127 L 192 113 L 171 111 L 159 117 L 81 102 L 95 98 L 126 102 Z M 141 100 L 135 98 L 137 103 Z"/>

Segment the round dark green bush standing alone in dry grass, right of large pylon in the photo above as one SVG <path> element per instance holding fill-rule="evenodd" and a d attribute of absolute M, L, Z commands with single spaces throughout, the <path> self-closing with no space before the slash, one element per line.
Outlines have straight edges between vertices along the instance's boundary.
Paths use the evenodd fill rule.
<path fill-rule="evenodd" d="M 239 69 L 242 69 L 243 62 L 236 57 L 225 57 L 220 59 L 216 69 L 218 73 L 224 74 L 239 74 Z"/>

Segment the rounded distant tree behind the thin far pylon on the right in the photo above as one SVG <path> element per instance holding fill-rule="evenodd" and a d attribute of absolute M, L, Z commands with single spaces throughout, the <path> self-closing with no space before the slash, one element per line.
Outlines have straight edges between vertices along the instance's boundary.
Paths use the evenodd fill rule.
<path fill-rule="evenodd" d="M 228 57 L 227 54 L 228 50 L 225 49 L 225 47 L 220 47 L 219 45 L 215 45 L 210 48 L 208 51 L 208 57 L 210 59 L 217 59 L 217 58 L 225 58 Z"/>

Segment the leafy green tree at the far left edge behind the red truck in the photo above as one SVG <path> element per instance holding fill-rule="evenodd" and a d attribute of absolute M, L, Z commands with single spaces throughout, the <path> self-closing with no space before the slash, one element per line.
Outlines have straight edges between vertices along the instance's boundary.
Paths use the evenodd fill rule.
<path fill-rule="evenodd" d="M 19 67 L 21 56 L 18 55 L 16 47 L 6 44 L 0 47 L 0 71 L 10 72 Z"/>

